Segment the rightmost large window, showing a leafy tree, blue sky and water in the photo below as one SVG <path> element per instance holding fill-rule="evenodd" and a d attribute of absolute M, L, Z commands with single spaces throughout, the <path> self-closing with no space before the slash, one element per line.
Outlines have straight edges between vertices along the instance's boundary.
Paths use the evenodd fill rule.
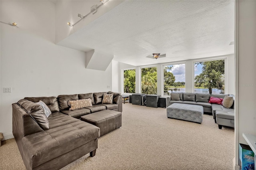
<path fill-rule="evenodd" d="M 194 62 L 194 93 L 225 93 L 225 60 Z"/>

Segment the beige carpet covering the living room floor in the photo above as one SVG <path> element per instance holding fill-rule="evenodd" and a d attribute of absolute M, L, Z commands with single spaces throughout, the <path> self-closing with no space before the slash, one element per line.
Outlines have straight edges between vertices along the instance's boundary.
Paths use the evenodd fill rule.
<path fill-rule="evenodd" d="M 0 169 L 26 169 L 15 140 L 2 144 Z M 122 127 L 99 138 L 96 155 L 62 170 L 234 170 L 233 159 L 234 129 L 218 129 L 212 116 L 198 124 L 168 119 L 164 108 L 126 103 Z"/>

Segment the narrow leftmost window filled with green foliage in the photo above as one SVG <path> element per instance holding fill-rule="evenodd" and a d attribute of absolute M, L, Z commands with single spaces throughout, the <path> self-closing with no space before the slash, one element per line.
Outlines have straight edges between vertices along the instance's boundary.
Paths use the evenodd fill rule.
<path fill-rule="evenodd" d="M 135 93 L 135 69 L 124 70 L 124 93 Z"/>

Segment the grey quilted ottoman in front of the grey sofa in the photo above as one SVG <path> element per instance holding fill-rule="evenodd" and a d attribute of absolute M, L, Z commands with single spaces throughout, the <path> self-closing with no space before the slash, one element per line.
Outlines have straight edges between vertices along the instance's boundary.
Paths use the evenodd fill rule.
<path fill-rule="evenodd" d="M 202 123 L 204 108 L 200 105 L 173 103 L 167 107 L 167 117 Z"/>

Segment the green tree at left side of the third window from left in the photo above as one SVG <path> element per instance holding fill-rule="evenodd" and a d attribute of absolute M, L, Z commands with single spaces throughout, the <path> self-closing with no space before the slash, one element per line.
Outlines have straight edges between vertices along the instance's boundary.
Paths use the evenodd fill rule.
<path fill-rule="evenodd" d="M 175 76 L 170 72 L 171 66 L 164 66 L 164 95 L 170 95 L 171 86 L 175 82 Z"/>

